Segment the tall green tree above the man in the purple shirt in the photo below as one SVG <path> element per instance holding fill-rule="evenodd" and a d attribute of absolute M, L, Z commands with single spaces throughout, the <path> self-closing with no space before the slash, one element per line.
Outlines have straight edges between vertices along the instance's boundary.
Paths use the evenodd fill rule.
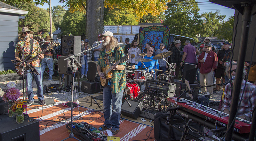
<path fill-rule="evenodd" d="M 165 11 L 164 25 L 168 25 L 170 33 L 196 37 L 201 28 L 198 5 L 195 0 L 171 0 Z"/>

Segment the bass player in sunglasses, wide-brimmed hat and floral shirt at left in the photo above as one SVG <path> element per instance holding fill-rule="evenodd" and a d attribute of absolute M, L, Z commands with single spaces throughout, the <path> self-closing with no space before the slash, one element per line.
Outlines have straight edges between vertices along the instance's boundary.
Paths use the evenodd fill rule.
<path fill-rule="evenodd" d="M 30 55 L 31 53 L 34 53 L 31 55 L 30 58 L 35 57 L 36 55 L 38 55 L 38 58 L 33 60 L 30 65 L 34 66 L 37 70 L 37 72 L 39 74 L 36 74 L 34 72 L 32 72 L 31 69 L 28 69 L 28 72 L 32 72 L 32 73 L 28 73 L 27 74 L 27 88 L 28 88 L 28 101 L 27 101 L 27 106 L 30 106 L 32 103 L 34 103 L 35 99 L 34 97 L 34 92 L 33 92 L 33 88 L 32 88 L 32 79 L 34 77 L 35 81 L 36 81 L 36 85 L 37 85 L 37 97 L 39 102 L 42 105 L 46 105 L 46 102 L 44 101 L 44 96 L 43 96 L 43 83 L 42 83 L 42 77 L 40 76 L 40 74 L 43 74 L 43 72 L 41 72 L 41 68 L 40 68 L 40 59 L 44 58 L 44 54 L 40 53 L 42 52 L 41 48 L 39 47 L 39 44 L 36 40 L 32 40 L 30 37 L 30 34 L 33 34 L 33 31 L 28 30 L 27 27 L 23 27 L 21 32 L 19 32 L 20 34 L 20 38 L 24 38 L 24 40 L 19 41 L 16 46 L 15 46 L 15 58 L 18 61 L 22 61 L 24 60 L 28 55 Z M 32 42 L 33 41 L 33 42 Z M 31 44 L 30 44 L 31 42 Z M 32 46 L 31 46 L 32 45 Z M 24 47 L 24 49 L 23 49 Z M 32 50 L 31 50 L 32 48 Z M 23 52 L 24 51 L 24 52 Z M 19 53 L 23 54 L 20 59 L 19 57 Z M 25 66 L 25 62 L 23 63 L 23 66 Z"/>

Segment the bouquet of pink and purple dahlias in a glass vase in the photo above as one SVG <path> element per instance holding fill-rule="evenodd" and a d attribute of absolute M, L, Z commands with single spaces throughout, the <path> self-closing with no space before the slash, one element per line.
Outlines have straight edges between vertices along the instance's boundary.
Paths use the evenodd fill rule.
<path fill-rule="evenodd" d="M 20 90 L 15 88 L 15 82 L 7 83 L 7 90 L 4 92 L 3 100 L 4 102 L 9 102 L 9 117 L 14 116 L 11 109 L 12 105 L 20 97 Z"/>

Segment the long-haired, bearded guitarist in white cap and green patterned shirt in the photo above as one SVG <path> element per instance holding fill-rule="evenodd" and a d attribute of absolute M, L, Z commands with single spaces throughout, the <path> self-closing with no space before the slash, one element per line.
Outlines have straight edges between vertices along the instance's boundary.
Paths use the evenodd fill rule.
<path fill-rule="evenodd" d="M 103 72 L 101 72 L 101 68 L 106 68 L 110 65 L 113 68 L 113 74 L 112 78 L 106 81 L 108 85 L 103 88 L 103 108 L 105 122 L 103 125 L 100 126 L 99 130 L 102 131 L 112 127 L 111 132 L 113 133 L 113 135 L 115 135 L 119 132 L 122 97 L 124 93 L 124 88 L 126 86 L 124 70 L 126 63 L 113 63 L 113 65 L 111 65 L 111 56 L 115 52 L 115 54 L 113 54 L 113 62 L 117 62 L 125 55 L 122 47 L 118 45 L 118 42 L 113 37 L 112 32 L 104 31 L 100 35 L 100 38 L 102 38 L 104 42 L 102 43 L 102 46 L 100 48 L 97 71 L 100 75 L 100 78 L 105 79 L 105 75 Z"/>

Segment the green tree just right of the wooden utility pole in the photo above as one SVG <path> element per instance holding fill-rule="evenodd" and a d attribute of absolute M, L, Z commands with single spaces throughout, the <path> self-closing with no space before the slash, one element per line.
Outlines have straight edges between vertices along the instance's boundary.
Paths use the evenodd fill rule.
<path fill-rule="evenodd" d="M 63 16 L 65 14 L 66 10 L 62 8 L 60 5 L 53 6 L 52 8 L 52 22 L 55 25 L 55 28 L 58 29 L 60 27 L 60 24 L 63 20 Z"/>

